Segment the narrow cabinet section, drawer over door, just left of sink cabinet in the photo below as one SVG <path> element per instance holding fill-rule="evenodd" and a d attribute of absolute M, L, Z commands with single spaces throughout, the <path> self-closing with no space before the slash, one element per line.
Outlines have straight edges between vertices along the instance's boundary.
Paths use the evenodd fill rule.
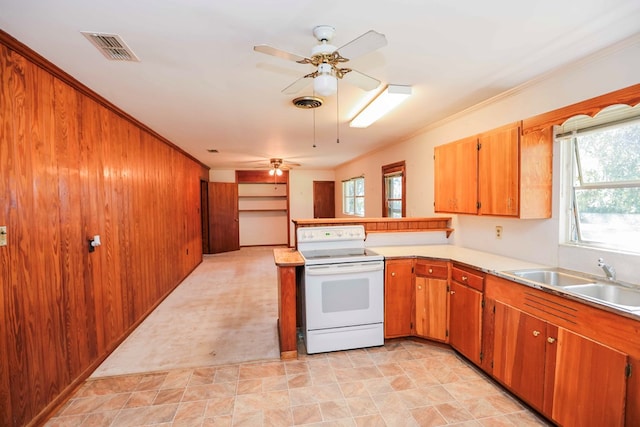
<path fill-rule="evenodd" d="M 454 264 L 449 292 L 449 343 L 469 360 L 482 362 L 484 274 Z"/>

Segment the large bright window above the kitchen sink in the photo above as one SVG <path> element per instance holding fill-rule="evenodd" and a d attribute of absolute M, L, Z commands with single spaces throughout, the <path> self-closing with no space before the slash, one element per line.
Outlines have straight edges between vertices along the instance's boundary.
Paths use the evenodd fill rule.
<path fill-rule="evenodd" d="M 607 114 L 576 120 L 572 132 L 560 135 L 571 158 L 568 240 L 640 253 L 640 115 L 619 114 L 608 122 Z"/>

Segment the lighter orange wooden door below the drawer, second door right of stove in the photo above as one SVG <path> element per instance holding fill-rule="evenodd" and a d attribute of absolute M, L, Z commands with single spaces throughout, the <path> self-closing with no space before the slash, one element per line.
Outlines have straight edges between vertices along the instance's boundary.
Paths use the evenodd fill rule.
<path fill-rule="evenodd" d="M 416 277 L 416 335 L 447 341 L 448 295 L 446 279 Z"/>

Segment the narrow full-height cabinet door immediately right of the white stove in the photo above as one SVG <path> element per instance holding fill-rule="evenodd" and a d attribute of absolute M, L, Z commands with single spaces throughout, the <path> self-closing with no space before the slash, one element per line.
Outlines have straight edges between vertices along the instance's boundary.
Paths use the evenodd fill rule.
<path fill-rule="evenodd" d="M 411 295 L 413 293 L 413 260 L 385 262 L 384 336 L 411 335 Z"/>

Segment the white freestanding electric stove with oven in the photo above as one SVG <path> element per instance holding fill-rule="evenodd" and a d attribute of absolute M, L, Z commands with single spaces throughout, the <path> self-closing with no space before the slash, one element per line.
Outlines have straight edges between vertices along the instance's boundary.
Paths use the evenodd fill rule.
<path fill-rule="evenodd" d="M 358 225 L 298 228 L 307 353 L 384 345 L 384 257 Z"/>

